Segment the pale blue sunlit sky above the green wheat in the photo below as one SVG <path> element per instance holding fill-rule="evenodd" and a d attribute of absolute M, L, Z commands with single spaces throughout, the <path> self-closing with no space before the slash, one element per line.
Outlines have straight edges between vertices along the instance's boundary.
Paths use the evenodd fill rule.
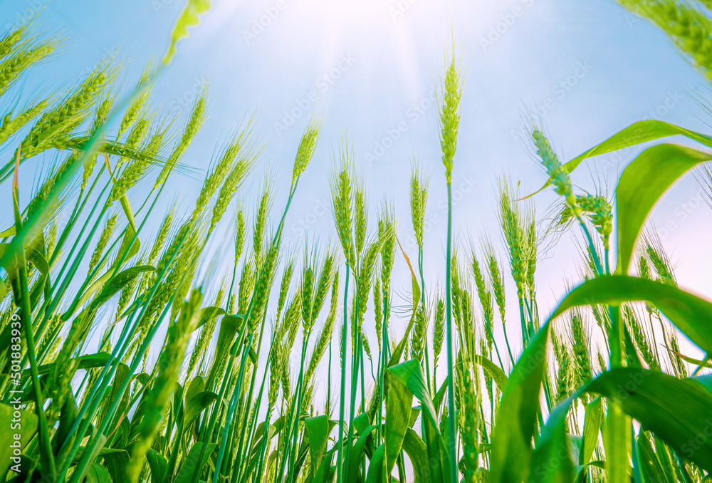
<path fill-rule="evenodd" d="M 164 53 L 182 6 L 182 0 L 2 0 L 0 22 L 6 28 L 26 12 L 39 12 L 42 29 L 68 38 L 60 55 L 33 68 L 16 89 L 30 94 L 41 85 L 69 87 L 105 56 L 122 61 L 128 89 L 149 58 Z M 384 196 L 395 202 L 399 238 L 411 256 L 412 160 L 432 172 L 426 277 L 438 279 L 446 191 L 434 87 L 451 33 L 465 74 L 453 175 L 454 226 L 464 249 L 470 241 L 478 246 L 484 234 L 501 246 L 499 176 L 504 173 L 524 188 L 545 180 L 530 145 L 521 140 L 527 113 L 543 123 L 562 160 L 637 120 L 659 118 L 709 130 L 707 113 L 695 100 L 709 97 L 703 78 L 663 33 L 611 0 L 216 0 L 180 43 L 154 90 L 157 105 L 185 113 L 200 85 L 206 80 L 210 85 L 209 119 L 186 157 L 194 175 L 173 177 L 167 192 L 177 192 L 189 209 L 216 146 L 254 114 L 267 145 L 241 196 L 251 206 L 269 170 L 275 211 L 281 211 L 299 137 L 311 115 L 322 116 L 320 145 L 290 210 L 288 241 L 298 244 L 305 228 L 323 241 L 334 239 L 328 172 L 347 135 L 367 180 L 372 214 Z M 572 178 L 584 189 L 602 184 L 612 194 L 617 173 L 639 151 L 590 160 Z M 26 179 L 38 166 L 24 167 Z M 545 192 L 535 202 L 543 217 L 557 199 Z M 2 209 L 0 222 L 10 219 Z M 681 284 L 708 295 L 711 221 L 690 176 L 654 214 Z M 577 257 L 568 234 L 544 254 L 538 267 L 543 315 L 564 294 L 565 284 L 577 282 Z M 405 292 L 404 264 L 396 270 Z"/>

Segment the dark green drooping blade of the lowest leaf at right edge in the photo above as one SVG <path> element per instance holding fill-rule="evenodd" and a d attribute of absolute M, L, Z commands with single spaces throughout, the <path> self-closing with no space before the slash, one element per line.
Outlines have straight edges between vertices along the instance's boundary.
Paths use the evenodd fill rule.
<path fill-rule="evenodd" d="M 614 368 L 585 390 L 616 400 L 627 415 L 679 455 L 712 470 L 712 393 L 698 381 L 641 368 Z"/>

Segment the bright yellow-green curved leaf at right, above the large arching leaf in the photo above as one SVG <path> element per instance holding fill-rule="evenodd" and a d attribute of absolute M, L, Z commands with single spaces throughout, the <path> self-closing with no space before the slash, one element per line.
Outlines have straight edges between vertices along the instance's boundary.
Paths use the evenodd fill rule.
<path fill-rule="evenodd" d="M 660 197 L 679 177 L 711 159 L 708 152 L 661 144 L 644 150 L 625 168 L 616 188 L 620 274 L 627 274 L 635 242 Z"/>

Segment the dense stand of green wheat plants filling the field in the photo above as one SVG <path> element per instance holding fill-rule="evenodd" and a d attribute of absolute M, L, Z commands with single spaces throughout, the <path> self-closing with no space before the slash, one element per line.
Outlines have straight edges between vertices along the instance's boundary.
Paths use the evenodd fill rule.
<path fill-rule="evenodd" d="M 706 2 L 620 3 L 708 75 Z M 281 163 L 288 186 L 267 172 L 251 199 L 265 147 L 253 118 L 199 172 L 207 88 L 184 115 L 155 107 L 156 78 L 210 4 L 188 2 L 167 56 L 127 93 L 105 60 L 66 92 L 0 113 L 12 215 L 0 227 L 2 481 L 709 482 L 712 302 L 679 286 L 646 222 L 687 172 L 708 181 L 711 135 L 647 120 L 563 162 L 530 125 L 544 188 L 560 197 L 555 231 L 582 253 L 567 293 L 540 313 L 538 261 L 555 233 L 537 197 L 504 176 L 498 226 L 478 243 L 453 236 L 459 121 L 471 115 L 453 49 L 433 133 L 448 193 L 443 276 L 425 270 L 439 256 L 425 220 L 441 177 L 411 163 L 399 220 L 395 200 L 370 203 L 347 138 L 325 176 L 333 237 L 307 233 L 293 249 L 284 231 L 300 180 L 328 159 L 323 121 L 311 118 Z M 62 45 L 34 28 L 0 36 L 0 98 Z M 656 142 L 612 196 L 576 188 L 587 158 L 670 135 L 703 147 Z M 56 162 L 30 182 L 44 155 Z M 202 181 L 181 209 L 168 180 L 185 174 Z"/>

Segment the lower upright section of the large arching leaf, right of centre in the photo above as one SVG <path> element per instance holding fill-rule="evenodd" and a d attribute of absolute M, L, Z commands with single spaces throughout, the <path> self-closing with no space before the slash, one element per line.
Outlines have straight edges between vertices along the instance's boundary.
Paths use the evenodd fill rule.
<path fill-rule="evenodd" d="M 509 376 L 492 431 L 491 482 L 520 483 L 527 477 L 531 442 L 541 411 L 548 340 L 549 322 L 530 341 Z"/>

